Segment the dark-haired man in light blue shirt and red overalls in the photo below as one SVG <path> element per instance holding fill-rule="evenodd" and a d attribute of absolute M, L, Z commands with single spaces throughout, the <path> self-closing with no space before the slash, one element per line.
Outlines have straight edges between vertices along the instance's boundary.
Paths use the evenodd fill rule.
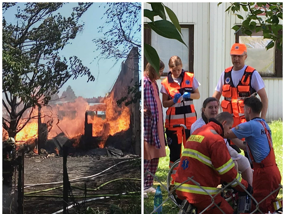
<path fill-rule="evenodd" d="M 257 97 L 249 97 L 244 100 L 244 104 L 245 119 L 248 122 L 237 125 L 225 135 L 229 138 L 245 138 L 239 147 L 248 151 L 253 162 L 253 197 L 259 202 L 278 189 L 281 175 L 275 160 L 271 130 L 265 120 L 259 117 L 261 101 Z M 274 202 L 278 192 L 271 194 L 259 205 L 260 211 L 275 211 Z M 254 210 L 253 203 L 252 211 Z"/>

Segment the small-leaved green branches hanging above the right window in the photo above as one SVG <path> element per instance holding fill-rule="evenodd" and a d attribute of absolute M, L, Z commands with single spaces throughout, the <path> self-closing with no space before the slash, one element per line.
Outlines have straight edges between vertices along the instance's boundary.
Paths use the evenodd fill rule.
<path fill-rule="evenodd" d="M 218 3 L 218 6 L 222 2 Z M 257 5 L 257 6 L 256 6 Z M 266 50 L 273 48 L 274 43 L 276 47 L 280 50 L 283 48 L 283 34 L 281 29 L 283 26 L 280 25 L 280 19 L 283 20 L 283 6 L 282 2 L 235 2 L 231 3 L 225 12 L 232 11 L 233 13 L 238 13 L 239 11 L 246 11 L 247 16 L 243 17 L 237 14 L 239 19 L 243 20 L 241 26 L 235 25 L 232 27 L 236 32 L 241 30 L 244 34 L 249 36 L 253 32 L 263 32 L 263 38 L 272 39 L 266 46 Z M 265 19 L 258 15 L 264 14 Z"/>

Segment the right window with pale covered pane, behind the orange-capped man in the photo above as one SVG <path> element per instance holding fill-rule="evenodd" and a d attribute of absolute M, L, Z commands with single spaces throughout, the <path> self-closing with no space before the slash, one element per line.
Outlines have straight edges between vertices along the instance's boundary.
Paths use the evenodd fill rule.
<path fill-rule="evenodd" d="M 282 33 L 282 31 L 280 32 Z M 235 42 L 247 46 L 245 64 L 255 68 L 263 77 L 282 77 L 282 50 L 276 47 L 266 51 L 270 39 L 263 39 L 262 32 L 253 32 L 252 36 L 237 32 Z"/>

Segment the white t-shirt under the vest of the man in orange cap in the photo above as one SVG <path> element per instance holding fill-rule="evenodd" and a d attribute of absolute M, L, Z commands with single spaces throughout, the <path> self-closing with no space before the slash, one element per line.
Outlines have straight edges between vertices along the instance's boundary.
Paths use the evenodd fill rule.
<path fill-rule="evenodd" d="M 232 70 L 231 77 L 233 79 L 233 85 L 235 87 L 237 87 L 237 84 L 239 84 L 239 81 L 243 77 L 246 67 L 247 65 L 245 65 L 239 71 Z M 219 91 L 220 93 L 222 93 L 224 80 L 225 80 L 225 71 L 223 71 L 220 76 L 219 82 L 215 88 L 216 91 Z M 260 74 L 256 70 L 251 75 L 251 87 L 253 87 L 253 89 L 255 89 L 256 92 L 264 88 L 264 81 L 262 80 Z"/>

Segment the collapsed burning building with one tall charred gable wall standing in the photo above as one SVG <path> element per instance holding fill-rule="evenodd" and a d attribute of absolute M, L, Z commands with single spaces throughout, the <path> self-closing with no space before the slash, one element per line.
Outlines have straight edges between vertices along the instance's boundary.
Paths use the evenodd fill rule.
<path fill-rule="evenodd" d="M 122 63 L 122 70 L 110 93 L 102 103 L 95 105 L 78 97 L 73 101 L 57 101 L 39 109 L 39 119 L 31 119 L 17 133 L 19 147 L 36 139 L 38 148 L 58 151 L 68 141 L 74 148 L 88 150 L 112 146 L 125 153 L 140 154 L 139 102 L 125 106 L 117 100 L 128 95 L 128 87 L 139 82 L 138 55 L 133 48 L 129 58 Z M 27 115 L 30 112 L 27 112 Z M 56 146 L 54 138 L 64 139 Z M 67 140 L 68 139 L 68 140 Z M 54 145 L 55 144 L 55 145 Z M 52 148 L 53 147 L 53 148 Z"/>

